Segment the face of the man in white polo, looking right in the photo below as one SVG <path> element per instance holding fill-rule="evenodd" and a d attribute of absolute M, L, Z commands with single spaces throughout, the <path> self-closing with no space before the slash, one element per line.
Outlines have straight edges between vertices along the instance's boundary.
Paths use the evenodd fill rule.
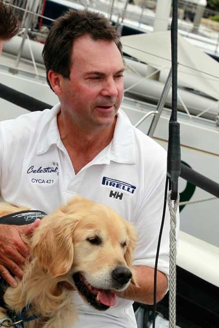
<path fill-rule="evenodd" d="M 79 37 L 74 41 L 70 80 L 61 83 L 62 110 L 79 127 L 110 126 L 123 97 L 123 71 L 114 42 Z"/>

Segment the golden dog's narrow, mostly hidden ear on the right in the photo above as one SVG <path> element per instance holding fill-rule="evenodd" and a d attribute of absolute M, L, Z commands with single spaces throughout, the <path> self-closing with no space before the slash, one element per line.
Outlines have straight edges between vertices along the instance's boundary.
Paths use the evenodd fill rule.
<path fill-rule="evenodd" d="M 132 272 L 132 278 L 131 278 L 131 283 L 135 286 L 138 286 L 136 279 L 135 279 L 135 273 L 134 269 L 132 266 L 132 261 L 133 261 L 133 251 L 135 248 L 135 243 L 136 243 L 136 232 L 132 224 L 129 222 L 126 222 L 126 230 L 127 230 L 127 235 L 128 235 L 128 246 L 124 254 L 124 259 L 127 263 L 127 266 Z"/>

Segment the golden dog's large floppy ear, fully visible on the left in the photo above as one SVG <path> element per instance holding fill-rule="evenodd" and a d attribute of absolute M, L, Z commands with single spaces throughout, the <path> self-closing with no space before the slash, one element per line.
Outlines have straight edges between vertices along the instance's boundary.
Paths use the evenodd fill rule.
<path fill-rule="evenodd" d="M 57 211 L 46 216 L 32 237 L 30 254 L 53 278 L 67 273 L 74 257 L 73 231 L 78 220 Z"/>

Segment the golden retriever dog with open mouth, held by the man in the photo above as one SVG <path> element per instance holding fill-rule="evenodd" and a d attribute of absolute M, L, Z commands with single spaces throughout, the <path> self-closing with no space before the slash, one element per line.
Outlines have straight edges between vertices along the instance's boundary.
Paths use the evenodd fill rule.
<path fill-rule="evenodd" d="M 0 216 L 27 210 L 0 203 Z M 24 238 L 30 255 L 8 287 L 4 301 L 16 314 L 27 308 L 25 328 L 72 327 L 76 314 L 72 291 L 98 310 L 116 304 L 116 291 L 136 285 L 132 269 L 135 232 L 109 207 L 82 197 L 46 215 Z"/>

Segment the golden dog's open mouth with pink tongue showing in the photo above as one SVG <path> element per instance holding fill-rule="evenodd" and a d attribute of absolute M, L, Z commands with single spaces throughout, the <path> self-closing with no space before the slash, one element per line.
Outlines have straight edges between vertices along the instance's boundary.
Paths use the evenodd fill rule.
<path fill-rule="evenodd" d="M 75 273 L 73 279 L 79 292 L 97 310 L 106 311 L 110 306 L 115 305 L 116 295 L 110 290 L 92 287 L 80 272 Z"/>

